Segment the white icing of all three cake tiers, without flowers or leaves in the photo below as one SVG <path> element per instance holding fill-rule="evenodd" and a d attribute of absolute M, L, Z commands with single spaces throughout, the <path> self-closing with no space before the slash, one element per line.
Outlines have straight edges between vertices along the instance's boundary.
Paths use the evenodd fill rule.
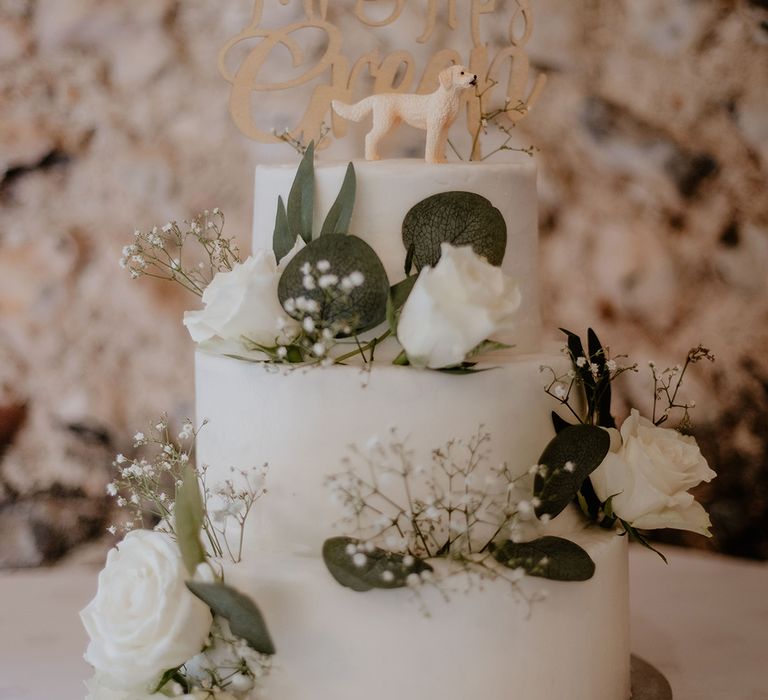
<path fill-rule="evenodd" d="M 426 459 L 482 425 L 492 438 L 489 463 L 523 473 L 554 434 L 556 404 L 539 367 L 564 362 L 542 351 L 539 338 L 532 165 L 389 161 L 356 169 L 350 230 L 376 250 L 390 283 L 404 277 L 400 227 L 413 204 L 468 190 L 499 208 L 508 230 L 503 267 L 518 278 L 524 299 L 516 347 L 488 361 L 495 369 L 473 376 L 386 362 L 370 373 L 354 366 L 288 371 L 198 350 L 197 415 L 210 421 L 199 435 L 198 462 L 209 465 L 209 480 L 231 478 L 230 467 L 269 463 L 243 561 L 226 574 L 258 601 L 272 630 L 278 654 L 264 697 L 626 700 L 626 538 L 586 527 L 574 511 L 541 527 L 580 544 L 595 575 L 568 583 L 526 579 L 524 591 L 548 593 L 530 611 L 500 579 L 462 572 L 448 579 L 447 598 L 425 587 L 419 602 L 409 589 L 352 591 L 326 569 L 321 546 L 338 534 L 341 512 L 324 482 L 342 471 L 349 445 L 394 427 Z M 271 247 L 277 197 L 287 195 L 295 170 L 257 168 L 255 247 Z M 318 164 L 316 173 L 315 216 L 322 220 L 344 167 Z"/>

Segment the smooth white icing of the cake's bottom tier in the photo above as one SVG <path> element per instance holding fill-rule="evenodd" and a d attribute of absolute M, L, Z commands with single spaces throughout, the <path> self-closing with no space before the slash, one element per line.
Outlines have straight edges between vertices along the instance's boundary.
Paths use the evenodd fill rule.
<path fill-rule="evenodd" d="M 532 606 L 509 582 L 466 573 L 418 594 L 356 593 L 316 557 L 249 551 L 226 575 L 277 648 L 264 700 L 627 700 L 626 538 L 578 527 L 568 536 L 594 577 L 525 578 L 525 596 L 546 593 Z"/>

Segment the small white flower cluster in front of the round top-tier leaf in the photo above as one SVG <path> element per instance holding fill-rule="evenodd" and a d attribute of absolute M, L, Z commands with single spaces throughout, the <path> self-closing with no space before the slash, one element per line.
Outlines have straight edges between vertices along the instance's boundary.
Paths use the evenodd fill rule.
<path fill-rule="evenodd" d="M 327 310 L 334 305 L 343 306 L 349 300 L 349 295 L 365 283 L 362 272 L 354 271 L 339 278 L 333 273 L 328 260 L 319 260 L 315 265 L 309 262 L 301 267 L 302 286 L 307 295 L 287 299 L 284 303 L 286 313 L 301 324 L 301 335 L 294 344 L 301 348 L 305 357 L 324 365 L 333 364 L 329 356 L 336 345 L 339 335 L 350 335 L 355 331 L 356 320 L 328 321 L 325 318 Z M 318 292 L 322 299 L 318 300 Z M 277 359 L 288 357 L 288 346 L 279 345 L 276 350 Z"/>

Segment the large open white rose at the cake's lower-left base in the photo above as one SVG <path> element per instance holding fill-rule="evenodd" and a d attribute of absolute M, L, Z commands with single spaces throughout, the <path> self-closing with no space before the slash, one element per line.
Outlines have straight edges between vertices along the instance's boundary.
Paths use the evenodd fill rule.
<path fill-rule="evenodd" d="M 85 659 L 125 688 L 151 684 L 203 648 L 211 612 L 169 535 L 135 530 L 107 555 L 94 599 L 80 613 L 90 643 Z"/>

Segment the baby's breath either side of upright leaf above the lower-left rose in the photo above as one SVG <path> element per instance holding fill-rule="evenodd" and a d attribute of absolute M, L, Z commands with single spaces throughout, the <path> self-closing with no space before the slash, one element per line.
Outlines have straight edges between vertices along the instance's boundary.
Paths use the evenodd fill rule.
<path fill-rule="evenodd" d="M 176 492 L 193 458 L 197 435 L 205 424 L 203 421 L 195 428 L 187 419 L 180 432 L 174 435 L 167 416 L 163 416 L 146 433 L 138 432 L 133 436 L 133 446 L 141 449 L 144 455 L 134 458 L 117 455 L 113 462 L 117 476 L 107 485 L 107 493 L 128 513 L 120 527 L 124 533 L 159 523 L 161 529 L 175 537 Z M 226 480 L 211 489 L 207 485 L 207 471 L 205 465 L 196 469 L 205 503 L 203 535 L 213 556 L 222 557 L 226 553 L 237 563 L 242 556 L 245 521 L 254 503 L 264 493 L 266 467 L 239 471 L 238 483 L 243 485 L 237 488 L 232 480 Z M 239 529 L 234 548 L 227 531 L 232 522 Z M 118 526 L 111 525 L 108 531 L 117 534 Z"/>

